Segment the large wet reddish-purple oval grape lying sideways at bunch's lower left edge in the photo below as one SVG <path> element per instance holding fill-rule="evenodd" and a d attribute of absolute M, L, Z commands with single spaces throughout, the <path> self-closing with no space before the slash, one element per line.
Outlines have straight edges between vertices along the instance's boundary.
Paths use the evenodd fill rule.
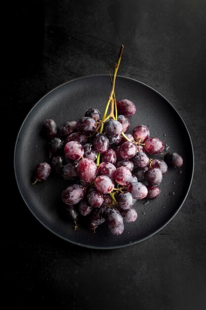
<path fill-rule="evenodd" d="M 86 196 L 86 189 L 82 185 L 68 186 L 62 193 L 62 200 L 67 205 L 76 205 Z"/>

